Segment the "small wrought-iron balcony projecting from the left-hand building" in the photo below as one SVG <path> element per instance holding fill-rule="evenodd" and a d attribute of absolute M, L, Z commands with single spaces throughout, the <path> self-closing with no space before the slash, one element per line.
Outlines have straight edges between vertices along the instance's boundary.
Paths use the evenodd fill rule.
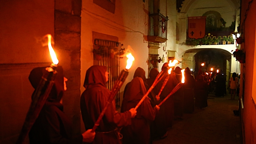
<path fill-rule="evenodd" d="M 167 21 L 161 13 L 149 14 L 148 41 L 164 43 L 167 41 Z"/>

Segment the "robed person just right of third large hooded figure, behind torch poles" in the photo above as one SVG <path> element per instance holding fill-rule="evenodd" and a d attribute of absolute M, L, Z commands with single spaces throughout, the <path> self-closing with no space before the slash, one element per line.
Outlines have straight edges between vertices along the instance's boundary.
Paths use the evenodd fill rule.
<path fill-rule="evenodd" d="M 159 72 L 156 68 L 151 69 L 149 78 L 147 79 L 149 87 L 154 83 L 158 74 Z M 159 100 L 156 99 L 156 95 L 159 93 L 162 85 L 163 81 L 160 81 L 152 90 L 152 93 L 154 94 L 153 99 L 151 99 L 152 107 L 155 107 L 164 99 L 163 95 L 160 95 Z M 150 135 L 152 140 L 157 138 L 163 139 L 167 136 L 164 106 L 160 108 L 159 112 L 156 114 L 155 120 L 150 124 Z"/>

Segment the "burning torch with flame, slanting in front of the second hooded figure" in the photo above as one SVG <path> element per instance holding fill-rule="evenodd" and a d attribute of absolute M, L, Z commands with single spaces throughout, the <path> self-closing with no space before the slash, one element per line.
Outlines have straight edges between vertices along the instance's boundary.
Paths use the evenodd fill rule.
<path fill-rule="evenodd" d="M 132 67 L 132 62 L 134 61 L 134 57 L 132 56 L 131 53 L 128 53 L 126 55 L 126 57 L 128 58 L 127 60 L 127 65 L 125 67 L 125 69 L 123 69 L 118 77 L 118 79 L 116 80 L 116 84 L 114 85 L 113 89 L 110 92 L 110 95 L 108 97 L 108 103 L 106 104 L 106 106 L 104 107 L 104 109 L 101 111 L 99 118 L 97 119 L 97 121 L 95 122 L 92 131 L 91 132 L 95 132 L 96 128 L 100 125 L 100 120 L 102 119 L 102 117 L 104 116 L 108 106 L 110 104 L 112 104 L 112 101 L 114 100 L 116 93 L 119 91 L 119 89 L 121 88 L 121 86 L 124 84 L 124 81 L 126 79 L 126 77 L 128 76 L 128 69 L 130 69 Z"/>

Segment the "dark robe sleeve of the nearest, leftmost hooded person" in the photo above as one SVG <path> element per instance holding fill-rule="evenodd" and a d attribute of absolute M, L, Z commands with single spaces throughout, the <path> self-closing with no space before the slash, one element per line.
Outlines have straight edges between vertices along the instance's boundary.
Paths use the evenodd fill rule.
<path fill-rule="evenodd" d="M 60 117 L 55 112 L 54 108 L 50 108 L 46 112 L 46 124 L 44 124 L 47 130 L 47 137 L 49 141 L 53 144 L 73 144 L 82 143 L 82 134 L 67 139 L 62 137 L 60 134 Z"/>

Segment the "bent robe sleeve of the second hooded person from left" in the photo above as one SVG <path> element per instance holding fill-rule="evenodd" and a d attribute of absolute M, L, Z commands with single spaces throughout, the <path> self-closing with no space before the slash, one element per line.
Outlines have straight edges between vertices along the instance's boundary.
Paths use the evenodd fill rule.
<path fill-rule="evenodd" d="M 103 91 L 101 94 L 102 94 L 102 96 L 101 96 L 102 100 L 100 100 L 100 103 L 101 103 L 101 109 L 103 109 L 105 107 L 105 105 L 107 104 L 107 102 L 108 102 L 109 93 Z M 116 106 L 115 105 L 116 105 L 115 100 L 113 100 L 112 103 L 107 108 L 107 110 L 105 112 L 105 116 L 107 118 L 107 121 L 109 123 L 116 124 L 117 127 L 132 124 L 132 120 L 131 120 L 131 115 L 132 114 L 131 114 L 131 112 L 130 111 L 125 111 L 123 113 L 119 113 L 119 112 L 116 111 Z"/>

